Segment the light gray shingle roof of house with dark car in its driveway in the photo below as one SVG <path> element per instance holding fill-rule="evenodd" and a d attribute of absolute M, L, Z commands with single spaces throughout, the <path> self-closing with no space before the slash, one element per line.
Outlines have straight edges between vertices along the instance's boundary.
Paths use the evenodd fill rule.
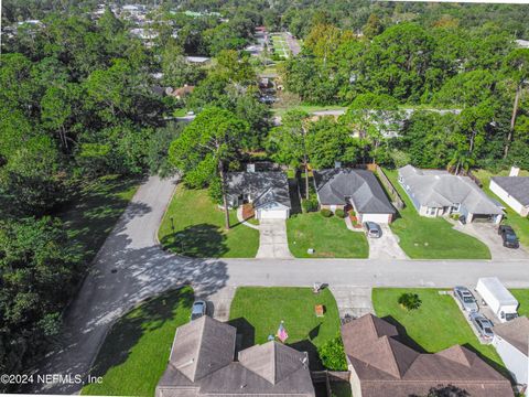
<path fill-rule="evenodd" d="M 461 203 L 473 214 L 504 213 L 468 176 L 452 175 L 443 170 L 419 170 L 412 165 L 399 169 L 399 176 L 421 205 L 443 207 Z"/>

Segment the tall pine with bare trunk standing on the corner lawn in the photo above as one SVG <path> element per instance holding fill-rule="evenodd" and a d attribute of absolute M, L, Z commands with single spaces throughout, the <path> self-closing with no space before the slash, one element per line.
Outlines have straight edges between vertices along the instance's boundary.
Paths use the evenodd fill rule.
<path fill-rule="evenodd" d="M 246 121 L 220 108 L 204 109 L 171 143 L 169 155 L 183 173 L 184 181 L 195 187 L 212 185 L 220 179 L 225 227 L 229 229 L 226 195 L 226 170 L 239 154 L 240 140 L 249 131 Z"/>

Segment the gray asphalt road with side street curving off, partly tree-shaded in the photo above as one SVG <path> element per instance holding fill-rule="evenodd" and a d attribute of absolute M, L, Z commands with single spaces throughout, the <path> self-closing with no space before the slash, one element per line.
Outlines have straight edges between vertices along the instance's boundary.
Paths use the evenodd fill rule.
<path fill-rule="evenodd" d="M 112 322 L 145 298 L 191 281 L 201 296 L 236 286 L 452 287 L 498 276 L 508 287 L 529 287 L 529 261 L 188 259 L 163 251 L 156 232 L 175 180 L 150 178 L 105 242 L 64 320 L 61 344 L 41 374 L 87 375 Z M 72 394 L 76 385 L 36 391 Z"/>

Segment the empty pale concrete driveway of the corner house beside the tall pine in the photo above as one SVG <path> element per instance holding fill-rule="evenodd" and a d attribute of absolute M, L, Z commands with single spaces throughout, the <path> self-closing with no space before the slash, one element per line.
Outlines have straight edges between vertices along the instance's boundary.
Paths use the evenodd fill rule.
<path fill-rule="evenodd" d="M 259 224 L 259 249 L 256 258 L 292 259 L 287 238 L 284 219 L 261 219 Z"/>

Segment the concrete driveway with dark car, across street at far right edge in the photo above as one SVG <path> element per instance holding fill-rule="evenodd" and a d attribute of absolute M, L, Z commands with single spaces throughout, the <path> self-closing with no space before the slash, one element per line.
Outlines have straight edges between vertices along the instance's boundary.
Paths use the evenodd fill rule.
<path fill-rule="evenodd" d="M 518 249 L 504 247 L 501 236 L 498 235 L 498 225 L 490 223 L 461 225 L 457 223 L 454 228 L 485 243 L 490 250 L 493 259 L 529 259 L 529 254 L 521 246 Z"/>

